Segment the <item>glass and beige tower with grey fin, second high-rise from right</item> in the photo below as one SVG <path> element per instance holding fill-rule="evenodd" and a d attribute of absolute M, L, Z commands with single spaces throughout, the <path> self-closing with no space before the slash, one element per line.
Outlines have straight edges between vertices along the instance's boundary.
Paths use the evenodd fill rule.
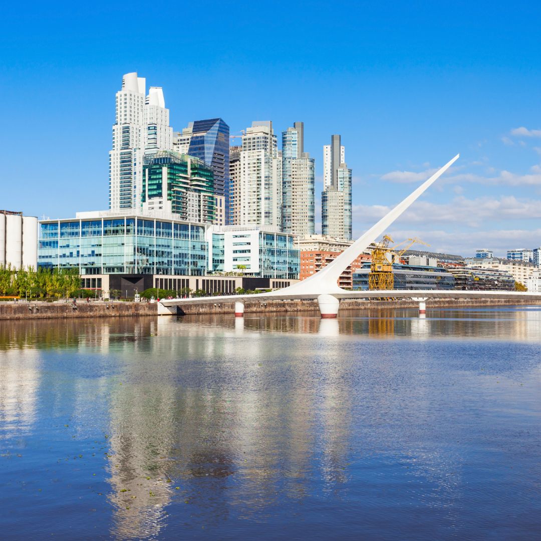
<path fill-rule="evenodd" d="M 315 233 L 315 164 L 304 151 L 304 123 L 282 132 L 282 231 Z"/>

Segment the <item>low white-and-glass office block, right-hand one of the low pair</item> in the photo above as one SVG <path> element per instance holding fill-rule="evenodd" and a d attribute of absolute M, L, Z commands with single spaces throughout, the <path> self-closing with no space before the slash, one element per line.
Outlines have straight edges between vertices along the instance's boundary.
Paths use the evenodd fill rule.
<path fill-rule="evenodd" d="M 241 272 L 260 278 L 299 278 L 299 250 L 293 235 L 278 228 L 213 228 L 213 271 Z"/>

